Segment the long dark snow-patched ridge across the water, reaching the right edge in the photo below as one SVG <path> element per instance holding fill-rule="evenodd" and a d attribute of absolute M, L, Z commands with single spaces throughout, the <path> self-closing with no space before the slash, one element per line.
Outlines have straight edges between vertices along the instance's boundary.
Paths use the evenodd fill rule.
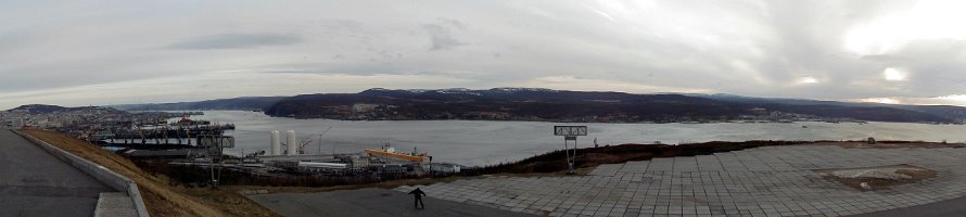
<path fill-rule="evenodd" d="M 736 99 L 739 97 L 736 97 Z M 743 98 L 743 97 L 740 97 Z M 547 122 L 703 122 L 730 120 L 768 112 L 800 118 L 873 122 L 956 123 L 933 107 L 857 106 L 841 102 L 715 99 L 685 94 L 631 94 L 531 88 L 488 90 L 389 90 L 305 94 L 287 98 L 265 114 L 333 119 L 490 119 Z M 810 101 L 812 102 L 812 101 Z M 942 107 L 961 110 L 963 107 Z"/>

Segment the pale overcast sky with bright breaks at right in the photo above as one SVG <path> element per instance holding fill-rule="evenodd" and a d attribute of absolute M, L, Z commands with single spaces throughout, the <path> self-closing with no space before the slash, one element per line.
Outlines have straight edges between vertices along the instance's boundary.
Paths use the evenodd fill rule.
<path fill-rule="evenodd" d="M 8 1 L 0 108 L 541 87 L 966 105 L 966 1 Z"/>

